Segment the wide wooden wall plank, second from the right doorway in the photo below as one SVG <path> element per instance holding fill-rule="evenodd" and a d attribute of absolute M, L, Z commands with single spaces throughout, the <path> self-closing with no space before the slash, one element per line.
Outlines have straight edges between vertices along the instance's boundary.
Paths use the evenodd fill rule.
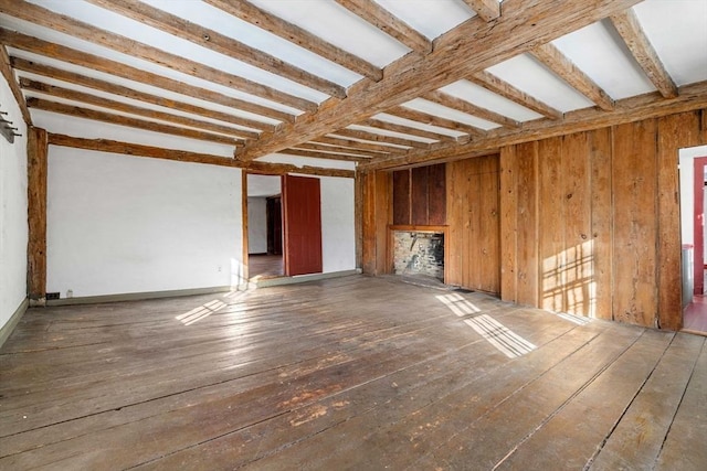
<path fill-rule="evenodd" d="M 656 125 L 644 120 L 614 130 L 614 320 L 657 321 Z"/>

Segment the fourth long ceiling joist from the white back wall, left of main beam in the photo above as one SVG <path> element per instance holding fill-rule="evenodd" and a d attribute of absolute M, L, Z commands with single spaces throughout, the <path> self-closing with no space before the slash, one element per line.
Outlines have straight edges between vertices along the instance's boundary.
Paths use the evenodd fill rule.
<path fill-rule="evenodd" d="M 105 74 L 115 75 L 117 77 L 127 78 L 133 82 L 137 82 L 145 85 L 150 85 L 157 88 L 163 88 L 169 92 L 173 92 L 180 95 L 199 98 L 204 101 L 211 101 L 219 105 L 223 105 L 230 108 L 239 109 L 242 111 L 252 113 L 254 115 L 266 116 L 272 119 L 285 122 L 294 122 L 295 117 L 288 113 L 279 111 L 266 106 L 257 105 L 251 101 L 233 98 L 228 95 L 223 95 L 217 92 L 209 90 L 184 84 L 183 82 L 175 81 L 163 77 L 161 75 L 152 74 L 150 72 L 143 71 L 137 67 L 131 67 L 126 64 L 120 64 L 115 61 L 110 61 L 104 57 L 98 57 L 93 54 L 76 51 L 71 47 L 53 44 L 48 41 L 40 40 L 38 38 L 28 36 L 25 34 L 15 33 L 0 28 L 0 42 L 18 49 L 27 51 L 32 54 L 42 55 L 45 57 L 54 58 L 68 64 L 77 65 L 93 71 L 103 72 Z M 41 67 L 36 65 L 36 67 Z M 25 67 L 27 68 L 27 67 Z M 27 72 L 34 72 L 34 69 Z M 41 72 L 38 72 L 41 74 Z"/>

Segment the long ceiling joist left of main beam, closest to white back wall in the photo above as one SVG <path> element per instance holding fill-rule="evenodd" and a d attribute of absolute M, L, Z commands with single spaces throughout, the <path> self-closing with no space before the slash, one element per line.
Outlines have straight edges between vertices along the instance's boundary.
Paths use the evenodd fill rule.
<path fill-rule="evenodd" d="M 103 121 L 110 125 L 126 126 L 129 128 L 143 129 L 145 131 L 161 132 L 165 135 L 180 136 L 183 138 L 191 138 L 203 140 L 208 142 L 218 142 L 229 146 L 242 146 L 243 141 L 229 138 L 226 136 L 214 135 L 211 132 L 199 131 L 196 129 L 180 128 L 177 126 L 163 125 L 161 122 L 148 121 L 145 119 L 138 119 L 122 115 L 115 115 L 112 113 L 97 111 L 95 109 L 82 108 L 73 105 L 65 105 L 62 103 L 50 101 L 42 98 L 31 97 L 28 98 L 27 105 L 33 109 L 41 109 L 43 111 L 56 113 L 60 115 L 73 116 L 76 118 L 92 119 L 94 121 Z"/>

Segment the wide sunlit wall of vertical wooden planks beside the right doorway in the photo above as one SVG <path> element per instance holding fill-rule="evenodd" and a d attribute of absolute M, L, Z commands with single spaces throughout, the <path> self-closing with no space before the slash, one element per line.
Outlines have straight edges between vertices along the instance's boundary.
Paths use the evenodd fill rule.
<path fill-rule="evenodd" d="M 678 149 L 707 142 L 705 114 L 502 149 L 502 298 L 679 329 Z"/>

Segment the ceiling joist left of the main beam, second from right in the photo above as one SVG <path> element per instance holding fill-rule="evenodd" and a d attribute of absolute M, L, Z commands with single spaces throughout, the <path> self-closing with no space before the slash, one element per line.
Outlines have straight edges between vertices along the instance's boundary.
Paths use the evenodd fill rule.
<path fill-rule="evenodd" d="M 204 2 L 373 82 L 383 77 L 383 71 L 380 67 L 324 41 L 303 28 L 270 14 L 245 0 L 204 0 Z"/>

